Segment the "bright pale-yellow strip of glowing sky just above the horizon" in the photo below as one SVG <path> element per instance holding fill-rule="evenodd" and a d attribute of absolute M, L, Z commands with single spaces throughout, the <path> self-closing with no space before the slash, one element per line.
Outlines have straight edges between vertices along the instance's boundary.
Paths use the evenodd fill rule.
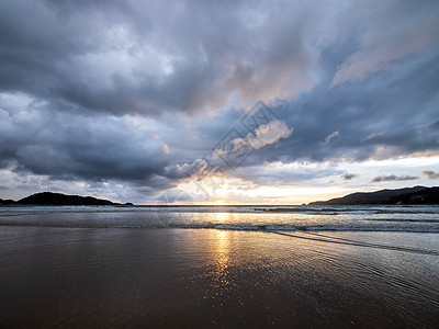
<path fill-rule="evenodd" d="M 372 179 L 383 173 L 404 175 L 413 172 L 417 181 L 413 184 L 428 185 L 430 181 L 423 170 L 435 169 L 439 157 L 404 157 L 382 161 L 364 162 L 323 162 L 323 163 L 264 163 L 238 168 L 229 175 L 207 177 L 203 180 L 184 181 L 178 185 L 185 191 L 191 204 L 234 205 L 234 204 L 302 204 L 317 200 L 339 197 L 349 193 L 380 190 L 380 183 Z M 327 172 L 326 174 L 322 174 Z M 248 173 L 252 172 L 252 175 Z M 352 180 L 345 180 L 344 173 L 352 173 Z M 236 175 L 234 175 L 236 174 Z M 238 178 L 255 177 L 254 180 Z M 267 184 L 269 181 L 271 184 Z M 389 182 L 392 189 L 403 188 L 407 182 Z M 188 203 L 182 201 L 181 203 Z"/>

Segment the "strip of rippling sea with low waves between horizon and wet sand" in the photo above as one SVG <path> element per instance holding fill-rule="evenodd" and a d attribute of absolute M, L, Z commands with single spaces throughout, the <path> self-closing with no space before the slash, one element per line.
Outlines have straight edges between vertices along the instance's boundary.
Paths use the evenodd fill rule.
<path fill-rule="evenodd" d="M 439 232 L 439 206 L 3 206 L 0 225 Z"/>

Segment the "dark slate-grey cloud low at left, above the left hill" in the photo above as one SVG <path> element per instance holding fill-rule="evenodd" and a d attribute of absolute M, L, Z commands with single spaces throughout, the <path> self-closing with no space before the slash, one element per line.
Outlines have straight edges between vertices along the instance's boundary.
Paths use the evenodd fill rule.
<path fill-rule="evenodd" d="M 164 141 L 130 117 L 47 115 L 20 95 L 0 103 L 0 155 L 3 163 L 16 163 L 15 170 L 55 179 L 142 181 L 169 164 Z"/>

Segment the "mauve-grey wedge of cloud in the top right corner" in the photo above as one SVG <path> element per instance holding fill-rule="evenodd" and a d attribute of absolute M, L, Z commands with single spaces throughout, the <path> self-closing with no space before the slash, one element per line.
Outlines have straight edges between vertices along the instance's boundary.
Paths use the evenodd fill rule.
<path fill-rule="evenodd" d="M 372 7 L 364 3 L 353 5 L 356 10 L 362 10 L 360 20 L 373 14 L 374 24 L 368 26 L 360 36 L 359 49 L 339 66 L 331 87 L 361 81 L 379 70 L 392 69 L 391 65 L 397 59 L 437 44 L 438 5 L 436 3 L 432 7 L 435 8 L 407 1 L 396 10 L 393 5 L 387 5 L 372 13 Z M 398 24 L 398 21 L 404 21 L 404 24 Z"/>

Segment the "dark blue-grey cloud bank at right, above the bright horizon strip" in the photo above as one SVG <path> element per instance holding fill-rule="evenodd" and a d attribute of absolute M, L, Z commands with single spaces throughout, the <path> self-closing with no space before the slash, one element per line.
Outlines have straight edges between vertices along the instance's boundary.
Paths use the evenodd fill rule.
<path fill-rule="evenodd" d="M 272 105 L 294 126 L 294 134 L 275 150 L 257 155 L 260 160 L 255 161 L 384 160 L 437 151 L 439 131 L 430 123 L 438 117 L 432 87 L 439 88 L 439 79 L 431 73 L 439 70 L 438 63 L 437 52 L 426 60 L 406 58 L 401 61 L 405 69 L 392 75 L 379 72 L 331 89 L 328 80 L 323 80 L 313 91 Z"/>

